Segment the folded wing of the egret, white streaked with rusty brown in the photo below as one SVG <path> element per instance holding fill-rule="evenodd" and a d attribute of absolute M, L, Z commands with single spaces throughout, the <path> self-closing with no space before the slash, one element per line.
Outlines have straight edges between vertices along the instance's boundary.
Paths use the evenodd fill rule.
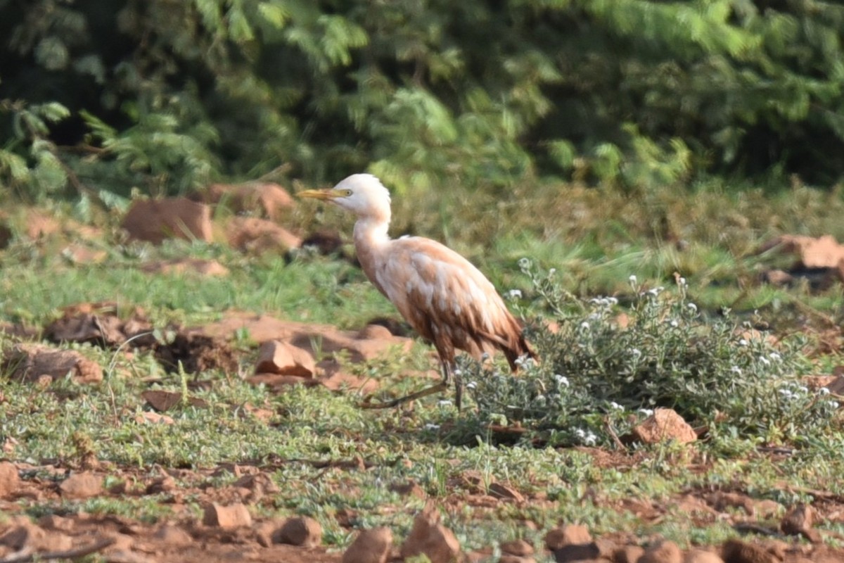
<path fill-rule="evenodd" d="M 439 242 L 390 241 L 374 275 L 376 285 L 441 355 L 459 348 L 478 356 L 513 347 L 520 338 L 521 328 L 490 280 Z"/>

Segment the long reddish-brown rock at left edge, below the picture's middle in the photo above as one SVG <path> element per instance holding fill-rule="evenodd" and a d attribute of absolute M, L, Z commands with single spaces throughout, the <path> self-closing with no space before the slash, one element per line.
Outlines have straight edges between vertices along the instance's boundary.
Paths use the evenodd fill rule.
<path fill-rule="evenodd" d="M 0 371 L 9 379 L 38 382 L 42 378 L 52 382 L 62 377 L 73 377 L 79 383 L 98 383 L 103 379 L 99 364 L 76 350 L 51 349 L 43 344 L 15 344 L 3 360 Z"/>

